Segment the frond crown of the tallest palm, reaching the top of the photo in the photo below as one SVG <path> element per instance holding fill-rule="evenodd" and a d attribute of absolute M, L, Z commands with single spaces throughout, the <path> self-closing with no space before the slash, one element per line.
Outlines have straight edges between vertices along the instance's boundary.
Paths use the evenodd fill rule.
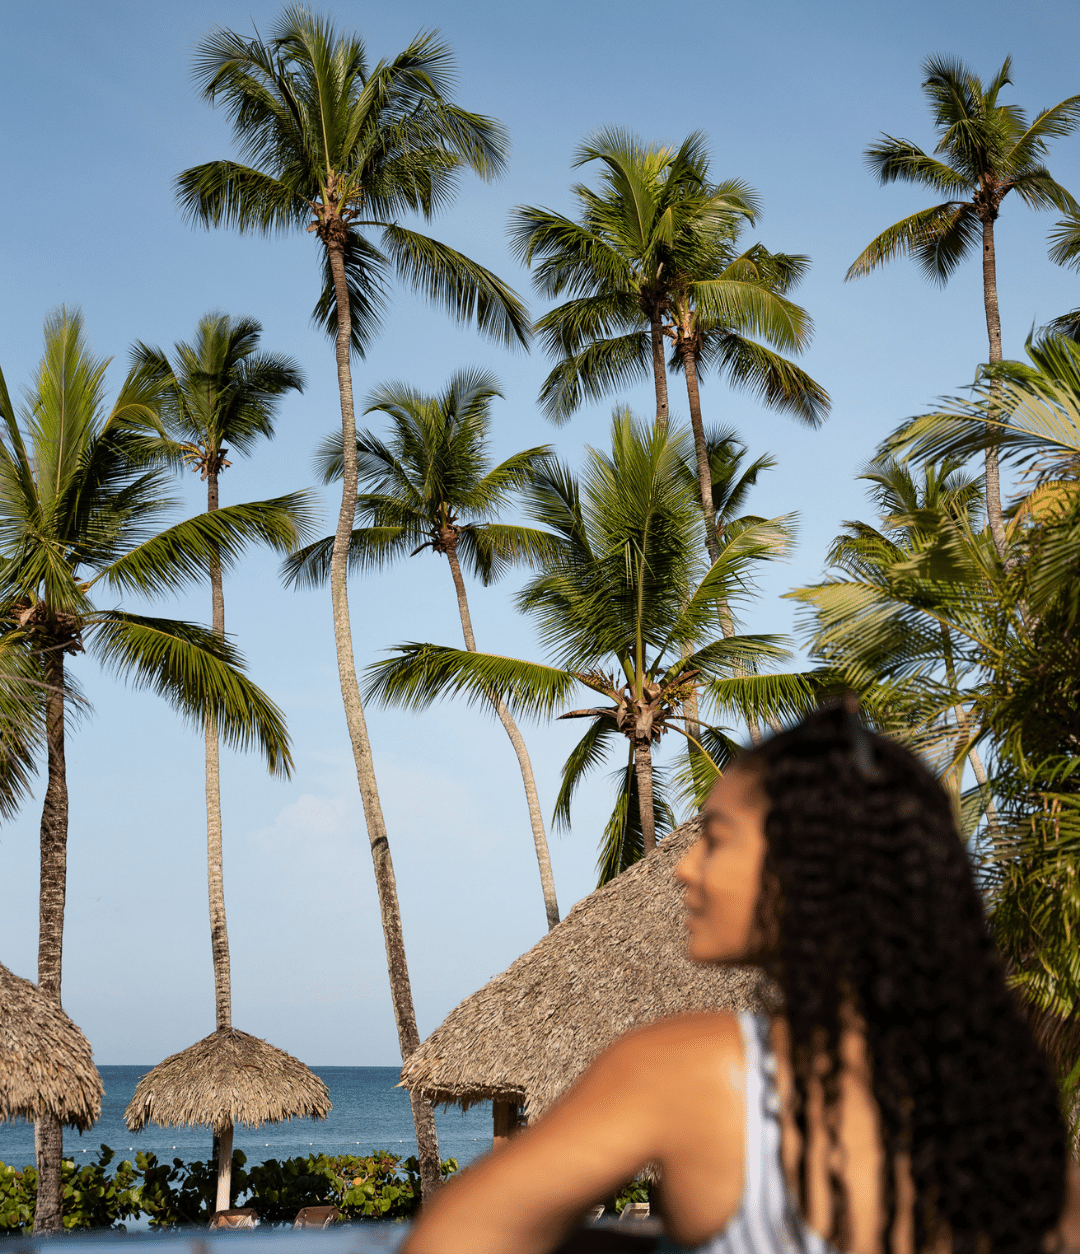
<path fill-rule="evenodd" d="M 332 247 L 361 355 L 379 329 L 391 273 L 498 340 L 527 340 L 524 308 L 502 280 L 398 221 L 442 208 L 463 169 L 490 178 L 506 162 L 503 128 L 447 98 L 453 58 L 445 43 L 419 35 L 400 55 L 369 66 L 359 38 L 292 6 L 266 40 L 212 33 L 199 46 L 196 79 L 228 113 L 242 161 L 184 171 L 177 178 L 184 213 L 204 226 L 317 234 L 327 265 L 314 316 L 331 335 L 339 319 Z"/>

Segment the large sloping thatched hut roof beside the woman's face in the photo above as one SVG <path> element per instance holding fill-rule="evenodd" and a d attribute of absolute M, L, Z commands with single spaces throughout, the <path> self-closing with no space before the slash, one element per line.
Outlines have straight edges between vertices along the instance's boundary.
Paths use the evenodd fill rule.
<path fill-rule="evenodd" d="M 401 1068 L 404 1087 L 463 1107 L 524 1104 L 532 1116 L 632 1027 L 682 1011 L 763 1008 L 760 973 L 685 956 L 672 872 L 699 830 L 697 819 L 684 824 L 450 1011 Z"/>

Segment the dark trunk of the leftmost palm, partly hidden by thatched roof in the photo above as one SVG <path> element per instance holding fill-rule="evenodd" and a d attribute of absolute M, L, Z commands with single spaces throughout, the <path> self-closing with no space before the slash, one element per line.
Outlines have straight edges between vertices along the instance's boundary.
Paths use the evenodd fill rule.
<path fill-rule="evenodd" d="M 68 887 L 68 771 L 64 756 L 64 653 L 50 641 L 44 653 L 45 739 L 49 782 L 41 806 L 41 882 L 38 905 L 38 988 L 60 1004 L 64 958 L 64 904 Z M 40 1115 L 34 1129 L 38 1155 L 38 1201 L 34 1233 L 59 1231 L 63 1223 L 64 1129 Z"/>

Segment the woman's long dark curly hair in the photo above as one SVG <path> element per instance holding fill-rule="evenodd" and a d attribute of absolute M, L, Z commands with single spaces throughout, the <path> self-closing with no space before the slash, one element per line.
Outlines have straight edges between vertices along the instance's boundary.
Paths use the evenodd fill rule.
<path fill-rule="evenodd" d="M 943 1236 L 952 1254 L 1042 1254 L 1065 1203 L 1065 1126 L 943 789 L 842 706 L 741 765 L 769 801 L 759 925 L 773 937 L 765 961 L 790 1025 L 803 1144 L 812 1067 L 835 1137 L 839 1042 L 854 1012 L 886 1161 L 911 1162 L 916 1249 Z M 805 1209 L 805 1164 L 800 1175 Z M 830 1188 L 842 1244 L 839 1178 Z M 884 1188 L 888 1234 L 893 1170 Z"/>

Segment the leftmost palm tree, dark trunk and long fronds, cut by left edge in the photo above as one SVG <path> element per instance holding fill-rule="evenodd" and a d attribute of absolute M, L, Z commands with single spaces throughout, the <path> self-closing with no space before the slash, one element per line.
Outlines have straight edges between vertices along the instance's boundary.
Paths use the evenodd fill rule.
<path fill-rule="evenodd" d="M 250 540 L 289 549 L 304 502 L 235 505 L 157 529 L 171 507 L 161 469 L 161 382 L 133 370 L 107 406 L 104 372 L 65 311 L 45 324 L 45 352 L 16 411 L 0 384 L 0 655 L 18 650 L 44 690 L 48 784 L 41 808 L 38 986 L 60 1001 L 66 892 L 68 655 L 92 652 L 135 687 L 149 687 L 199 726 L 212 717 L 227 744 L 257 747 L 273 774 L 292 759 L 278 709 L 246 677 L 233 646 L 212 631 L 95 603 L 97 584 L 156 596 L 228 564 Z M 38 1124 L 35 1230 L 60 1226 L 61 1129 Z"/>

